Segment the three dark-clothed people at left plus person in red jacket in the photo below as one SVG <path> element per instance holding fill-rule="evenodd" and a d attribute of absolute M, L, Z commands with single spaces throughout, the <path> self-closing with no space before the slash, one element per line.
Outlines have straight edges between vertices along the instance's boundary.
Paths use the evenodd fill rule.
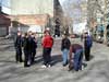
<path fill-rule="evenodd" d="M 24 67 L 29 67 L 35 62 L 35 55 L 37 49 L 37 37 L 35 33 L 27 32 L 22 34 L 17 32 L 15 42 L 15 60 L 16 62 L 23 62 Z M 51 49 L 53 46 L 53 38 L 50 35 L 50 32 L 46 30 L 44 32 L 44 37 L 41 40 L 43 46 L 43 68 L 51 67 Z M 24 54 L 24 59 L 22 58 Z"/>

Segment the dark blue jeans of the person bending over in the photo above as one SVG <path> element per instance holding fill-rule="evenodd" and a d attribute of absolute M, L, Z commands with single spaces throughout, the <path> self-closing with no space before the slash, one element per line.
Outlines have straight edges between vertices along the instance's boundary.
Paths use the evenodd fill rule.
<path fill-rule="evenodd" d="M 82 70 L 82 60 L 83 60 L 83 49 L 76 50 L 74 54 L 74 70 Z"/>

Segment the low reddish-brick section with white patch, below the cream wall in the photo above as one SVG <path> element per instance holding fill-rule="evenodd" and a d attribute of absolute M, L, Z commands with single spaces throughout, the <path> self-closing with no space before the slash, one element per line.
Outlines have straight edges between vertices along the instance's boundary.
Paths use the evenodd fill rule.
<path fill-rule="evenodd" d="M 33 32 L 41 33 L 49 24 L 50 16 L 48 14 L 23 14 L 23 15 L 10 15 L 12 21 L 12 33 L 22 31 L 27 32 L 29 28 Z"/>

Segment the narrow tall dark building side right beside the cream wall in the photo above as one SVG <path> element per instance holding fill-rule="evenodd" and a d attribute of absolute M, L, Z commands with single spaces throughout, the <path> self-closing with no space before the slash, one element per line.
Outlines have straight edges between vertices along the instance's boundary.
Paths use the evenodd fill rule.
<path fill-rule="evenodd" d="M 63 27 L 63 10 L 59 0 L 53 0 L 55 35 L 60 36 Z"/>

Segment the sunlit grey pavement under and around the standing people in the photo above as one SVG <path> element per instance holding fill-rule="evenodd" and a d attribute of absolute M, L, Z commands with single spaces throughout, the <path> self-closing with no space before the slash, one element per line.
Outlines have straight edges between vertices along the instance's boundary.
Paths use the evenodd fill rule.
<path fill-rule="evenodd" d="M 80 39 L 76 39 L 81 43 Z M 15 51 L 12 40 L 0 39 L 0 82 L 109 82 L 109 47 L 102 44 L 93 44 L 92 60 L 82 71 L 68 71 L 62 67 L 60 44 L 61 38 L 55 39 L 52 49 L 52 67 L 41 68 L 43 49 L 39 46 L 36 62 L 29 68 L 23 63 L 15 63 Z M 72 40 L 72 43 L 75 43 Z M 81 43 L 82 44 L 82 43 Z"/>

